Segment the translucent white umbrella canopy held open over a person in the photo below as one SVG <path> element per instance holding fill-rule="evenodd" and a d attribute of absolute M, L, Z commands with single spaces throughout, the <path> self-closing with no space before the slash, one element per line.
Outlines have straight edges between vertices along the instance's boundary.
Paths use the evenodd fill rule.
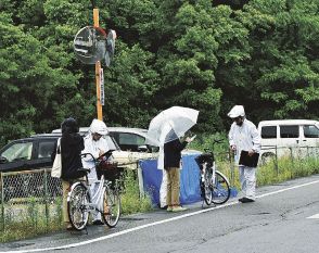
<path fill-rule="evenodd" d="M 197 122 L 199 111 L 173 106 L 157 114 L 150 123 L 148 135 L 152 142 L 163 146 L 183 136 Z M 163 134 L 165 132 L 165 138 Z"/>

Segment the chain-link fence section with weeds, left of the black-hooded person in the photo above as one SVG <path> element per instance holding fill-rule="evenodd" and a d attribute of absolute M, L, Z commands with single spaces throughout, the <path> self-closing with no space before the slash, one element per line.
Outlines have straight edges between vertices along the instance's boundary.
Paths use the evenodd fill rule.
<path fill-rule="evenodd" d="M 62 224 L 62 184 L 51 169 L 0 173 L 0 230 L 23 226 L 46 231 Z"/>

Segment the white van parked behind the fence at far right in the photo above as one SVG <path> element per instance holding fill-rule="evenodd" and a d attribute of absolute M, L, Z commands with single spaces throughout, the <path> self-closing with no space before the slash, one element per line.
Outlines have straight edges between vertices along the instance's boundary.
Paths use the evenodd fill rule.
<path fill-rule="evenodd" d="M 318 154 L 319 122 L 317 121 L 264 121 L 258 124 L 258 131 L 261 137 L 261 159 L 276 154 L 282 156 L 289 154 L 291 150 L 299 150 L 303 154 L 315 151 Z"/>

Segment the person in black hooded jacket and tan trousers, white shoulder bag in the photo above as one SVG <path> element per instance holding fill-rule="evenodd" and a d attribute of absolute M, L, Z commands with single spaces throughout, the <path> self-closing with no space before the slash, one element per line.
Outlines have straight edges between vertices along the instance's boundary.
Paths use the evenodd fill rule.
<path fill-rule="evenodd" d="M 73 117 L 66 118 L 62 124 L 62 137 L 61 137 L 61 162 L 62 162 L 62 187 L 63 187 L 63 219 L 65 222 L 66 229 L 72 229 L 72 225 L 67 214 L 67 194 L 71 186 L 76 180 L 79 180 L 85 176 L 81 162 L 81 150 L 85 149 L 84 138 L 78 134 L 78 125 Z M 54 148 L 56 152 L 56 148 Z M 55 153 L 52 154 L 54 160 Z"/>

